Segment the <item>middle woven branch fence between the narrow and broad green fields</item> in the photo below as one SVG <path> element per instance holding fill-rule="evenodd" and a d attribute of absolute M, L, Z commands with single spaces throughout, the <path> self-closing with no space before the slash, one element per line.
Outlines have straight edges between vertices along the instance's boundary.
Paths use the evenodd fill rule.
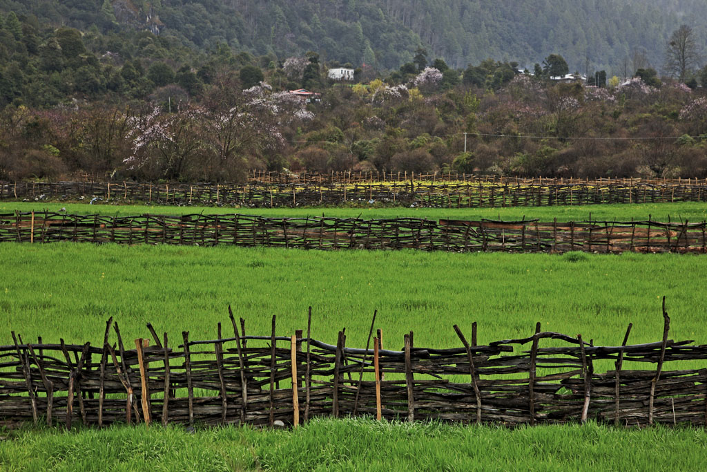
<path fill-rule="evenodd" d="M 197 246 L 423 251 L 707 253 L 707 223 L 265 218 L 244 214 L 108 217 L 0 214 L 0 242 L 76 241 Z"/>

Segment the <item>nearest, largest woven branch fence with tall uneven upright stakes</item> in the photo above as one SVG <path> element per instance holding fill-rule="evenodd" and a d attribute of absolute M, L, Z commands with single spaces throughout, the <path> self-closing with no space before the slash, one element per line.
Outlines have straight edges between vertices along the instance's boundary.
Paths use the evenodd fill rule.
<path fill-rule="evenodd" d="M 0 346 L 0 424 L 279 420 L 296 427 L 300 419 L 372 415 L 505 425 L 588 419 L 707 425 L 707 369 L 664 370 L 665 362 L 703 363 L 707 345 L 669 340 L 665 308 L 663 317 L 662 340 L 628 345 L 629 325 L 623 343 L 609 347 L 541 332 L 540 323 L 528 338 L 477 345 L 473 323 L 470 341 L 454 326 L 459 347 L 416 347 L 411 332 L 400 340 L 402 350 L 385 350 L 380 330 L 370 339 L 375 315 L 365 349 L 346 347 L 344 330 L 335 345 L 302 331 L 276 335 L 274 316 L 269 335 L 245 335 L 245 321 L 239 328 L 233 314 L 233 335 L 224 336 L 218 323 L 215 340 L 190 340 L 183 332 L 175 343 L 148 324 L 153 345 L 147 338 L 126 345 L 112 319 L 98 347 L 41 338 L 31 344 L 12 333 L 14 345 Z M 311 309 L 308 333 L 310 323 Z M 552 347 L 540 347 L 547 340 Z M 600 361 L 614 369 L 595 372 Z"/>

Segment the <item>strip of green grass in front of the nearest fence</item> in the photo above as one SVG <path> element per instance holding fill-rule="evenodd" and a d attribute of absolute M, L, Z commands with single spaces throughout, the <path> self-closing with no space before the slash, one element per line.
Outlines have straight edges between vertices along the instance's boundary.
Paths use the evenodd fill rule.
<path fill-rule="evenodd" d="M 110 427 L 13 433 L 4 471 L 699 471 L 704 430 L 314 420 L 296 431 Z"/>

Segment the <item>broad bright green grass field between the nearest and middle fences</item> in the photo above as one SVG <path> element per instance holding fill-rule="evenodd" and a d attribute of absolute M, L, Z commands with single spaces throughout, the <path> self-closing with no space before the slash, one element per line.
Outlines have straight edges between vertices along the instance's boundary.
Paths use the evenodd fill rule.
<path fill-rule="evenodd" d="M 145 323 L 172 340 L 214 339 L 230 330 L 227 306 L 246 319 L 247 333 L 306 329 L 334 343 L 365 345 L 370 317 L 386 347 L 457 346 L 452 325 L 479 322 L 479 342 L 544 330 L 581 333 L 617 345 L 629 322 L 631 342 L 659 340 L 660 297 L 667 296 L 671 338 L 707 343 L 699 255 L 426 253 L 303 251 L 281 248 L 95 246 L 81 243 L 0 244 L 0 343 L 10 330 L 26 340 L 100 344 L 113 316 L 127 340 L 145 337 Z"/>

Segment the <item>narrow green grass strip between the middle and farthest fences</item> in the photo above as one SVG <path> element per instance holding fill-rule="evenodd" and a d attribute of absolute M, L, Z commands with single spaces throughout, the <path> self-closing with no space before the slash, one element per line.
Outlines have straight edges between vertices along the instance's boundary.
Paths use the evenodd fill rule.
<path fill-rule="evenodd" d="M 506 208 L 377 208 L 377 207 L 300 207 L 300 208 L 234 208 L 234 207 L 177 207 L 146 205 L 86 205 L 86 203 L 57 202 L 0 202 L 0 212 L 42 212 L 47 209 L 56 212 L 61 208 L 77 214 L 105 214 L 127 216 L 133 214 L 259 214 L 266 217 L 327 217 L 363 219 L 378 218 L 455 218 L 455 219 L 501 219 L 520 220 L 540 219 L 541 221 L 580 221 L 588 219 L 630 221 L 648 219 L 654 221 L 679 221 L 688 219 L 692 222 L 707 219 L 707 204 L 697 202 L 646 203 L 635 205 L 585 205 L 580 207 L 506 207 Z"/>

